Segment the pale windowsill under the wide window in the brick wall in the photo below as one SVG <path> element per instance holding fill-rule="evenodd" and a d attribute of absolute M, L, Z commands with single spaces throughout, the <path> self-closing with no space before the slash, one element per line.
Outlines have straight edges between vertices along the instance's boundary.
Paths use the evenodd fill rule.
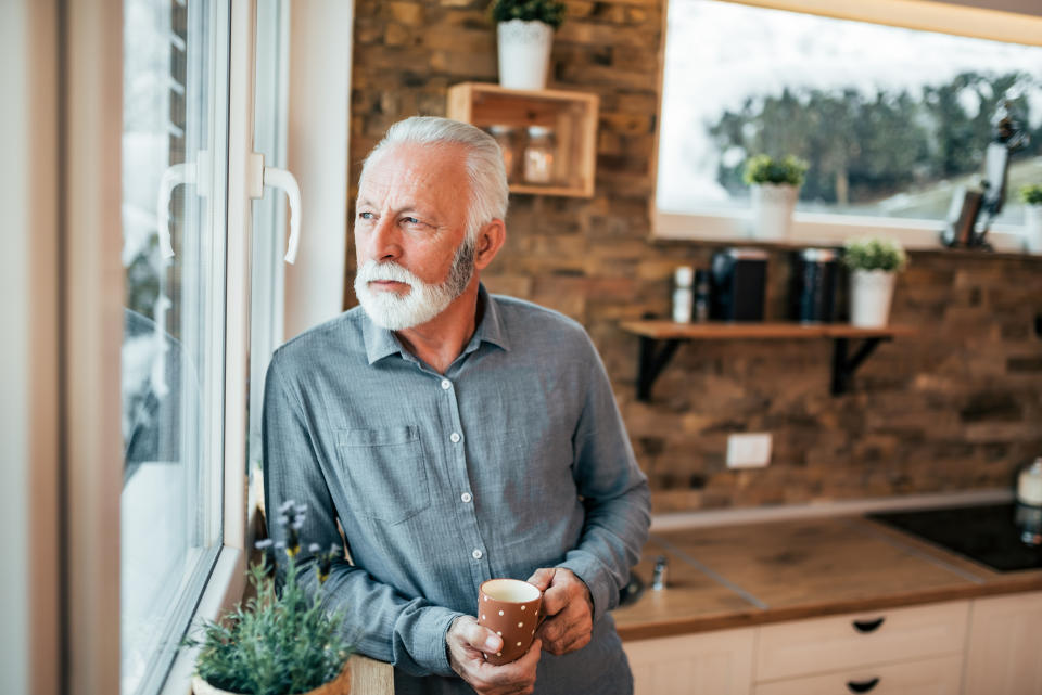
<path fill-rule="evenodd" d="M 939 240 L 941 222 L 857 218 L 847 215 L 796 213 L 792 229 L 784 241 L 752 239 L 749 235 L 751 214 L 686 215 L 655 210 L 651 219 L 651 240 L 662 242 L 704 242 L 742 244 L 772 248 L 803 248 L 806 246 L 841 246 L 856 236 L 886 236 L 899 241 L 910 250 L 952 252 Z M 1022 250 L 1020 228 L 1000 224 L 989 230 L 992 252 L 1016 257 L 1038 257 Z M 992 253 L 973 250 L 969 253 Z"/>

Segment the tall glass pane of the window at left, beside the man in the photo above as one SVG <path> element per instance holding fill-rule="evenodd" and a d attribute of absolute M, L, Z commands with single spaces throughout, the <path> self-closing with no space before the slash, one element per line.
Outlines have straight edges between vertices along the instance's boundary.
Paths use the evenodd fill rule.
<path fill-rule="evenodd" d="M 220 546 L 228 3 L 125 0 L 120 692 L 162 684 Z"/>

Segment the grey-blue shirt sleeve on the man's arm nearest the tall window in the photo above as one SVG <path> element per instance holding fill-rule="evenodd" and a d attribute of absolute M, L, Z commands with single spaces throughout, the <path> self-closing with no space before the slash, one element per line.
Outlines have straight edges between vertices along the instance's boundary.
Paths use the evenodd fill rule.
<path fill-rule="evenodd" d="M 276 352 L 265 384 L 262 424 L 269 533 L 276 542 L 287 541 L 287 529 L 278 523 L 278 516 L 280 507 L 293 501 L 307 507 L 300 530 L 305 549 L 312 543 L 322 550 L 341 546 L 336 510 L 313 445 L 312 423 L 283 369 Z M 305 587 L 318 591 L 315 563 L 307 558 L 306 551 L 300 557 L 307 563 Z M 333 564 L 320 591 L 326 610 L 344 616 L 341 632 L 361 654 L 414 675 L 453 674 L 445 633 L 460 613 L 403 596 L 346 561 Z"/>

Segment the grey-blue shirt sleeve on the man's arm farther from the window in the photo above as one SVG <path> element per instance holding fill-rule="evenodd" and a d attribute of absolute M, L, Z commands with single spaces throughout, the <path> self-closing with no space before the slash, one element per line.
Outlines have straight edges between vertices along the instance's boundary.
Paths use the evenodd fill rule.
<path fill-rule="evenodd" d="M 588 338 L 587 338 L 588 339 Z M 619 603 L 650 527 L 647 476 L 637 465 L 605 366 L 589 344 L 586 398 L 573 435 L 574 477 L 586 518 L 559 566 L 589 588 L 594 620 Z"/>

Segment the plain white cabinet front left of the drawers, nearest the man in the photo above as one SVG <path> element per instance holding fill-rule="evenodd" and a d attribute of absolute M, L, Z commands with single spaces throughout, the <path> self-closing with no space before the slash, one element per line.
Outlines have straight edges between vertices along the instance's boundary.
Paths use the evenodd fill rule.
<path fill-rule="evenodd" d="M 623 642 L 634 695 L 748 695 L 754 628 Z"/>

